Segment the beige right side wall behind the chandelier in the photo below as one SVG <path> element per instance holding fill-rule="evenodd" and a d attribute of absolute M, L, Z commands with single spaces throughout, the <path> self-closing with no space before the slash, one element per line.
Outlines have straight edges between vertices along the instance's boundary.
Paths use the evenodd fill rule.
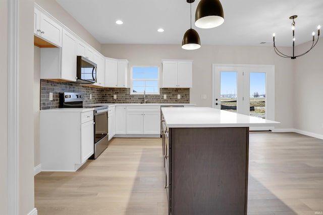
<path fill-rule="evenodd" d="M 294 71 L 294 125 L 296 129 L 323 137 L 323 44 L 297 58 Z M 311 42 L 297 46 L 296 53 L 309 49 Z"/>

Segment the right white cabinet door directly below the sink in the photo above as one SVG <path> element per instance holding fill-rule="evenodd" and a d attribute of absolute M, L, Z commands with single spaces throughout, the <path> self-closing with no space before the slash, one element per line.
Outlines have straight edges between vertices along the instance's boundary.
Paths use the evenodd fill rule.
<path fill-rule="evenodd" d="M 160 113 L 159 112 L 144 112 L 143 133 L 160 134 Z"/>

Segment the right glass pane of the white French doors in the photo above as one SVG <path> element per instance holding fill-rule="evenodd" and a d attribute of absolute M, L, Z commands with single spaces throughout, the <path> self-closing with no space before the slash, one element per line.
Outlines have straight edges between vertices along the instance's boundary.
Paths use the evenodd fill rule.
<path fill-rule="evenodd" d="M 250 73 L 250 116 L 266 118 L 266 73 Z"/>

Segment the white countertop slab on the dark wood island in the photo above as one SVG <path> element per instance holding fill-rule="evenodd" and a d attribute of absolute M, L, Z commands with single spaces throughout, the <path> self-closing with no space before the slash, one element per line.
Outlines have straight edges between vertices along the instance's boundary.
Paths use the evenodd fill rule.
<path fill-rule="evenodd" d="M 161 108 L 168 128 L 267 127 L 279 122 L 213 108 Z"/>

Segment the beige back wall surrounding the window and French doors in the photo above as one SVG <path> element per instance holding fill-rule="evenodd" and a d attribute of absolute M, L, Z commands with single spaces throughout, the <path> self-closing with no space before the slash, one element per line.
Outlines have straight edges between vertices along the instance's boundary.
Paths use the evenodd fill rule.
<path fill-rule="evenodd" d="M 286 52 L 287 48 L 281 49 Z M 129 68 L 143 65 L 161 68 L 163 59 L 194 60 L 190 101 L 209 107 L 212 106 L 212 64 L 275 65 L 275 120 L 282 123 L 280 128 L 293 128 L 293 62 L 276 56 L 273 47 L 202 44 L 197 50 L 184 50 L 180 44 L 102 44 L 101 52 L 105 57 L 129 60 Z M 207 98 L 202 99 L 202 94 Z"/>

